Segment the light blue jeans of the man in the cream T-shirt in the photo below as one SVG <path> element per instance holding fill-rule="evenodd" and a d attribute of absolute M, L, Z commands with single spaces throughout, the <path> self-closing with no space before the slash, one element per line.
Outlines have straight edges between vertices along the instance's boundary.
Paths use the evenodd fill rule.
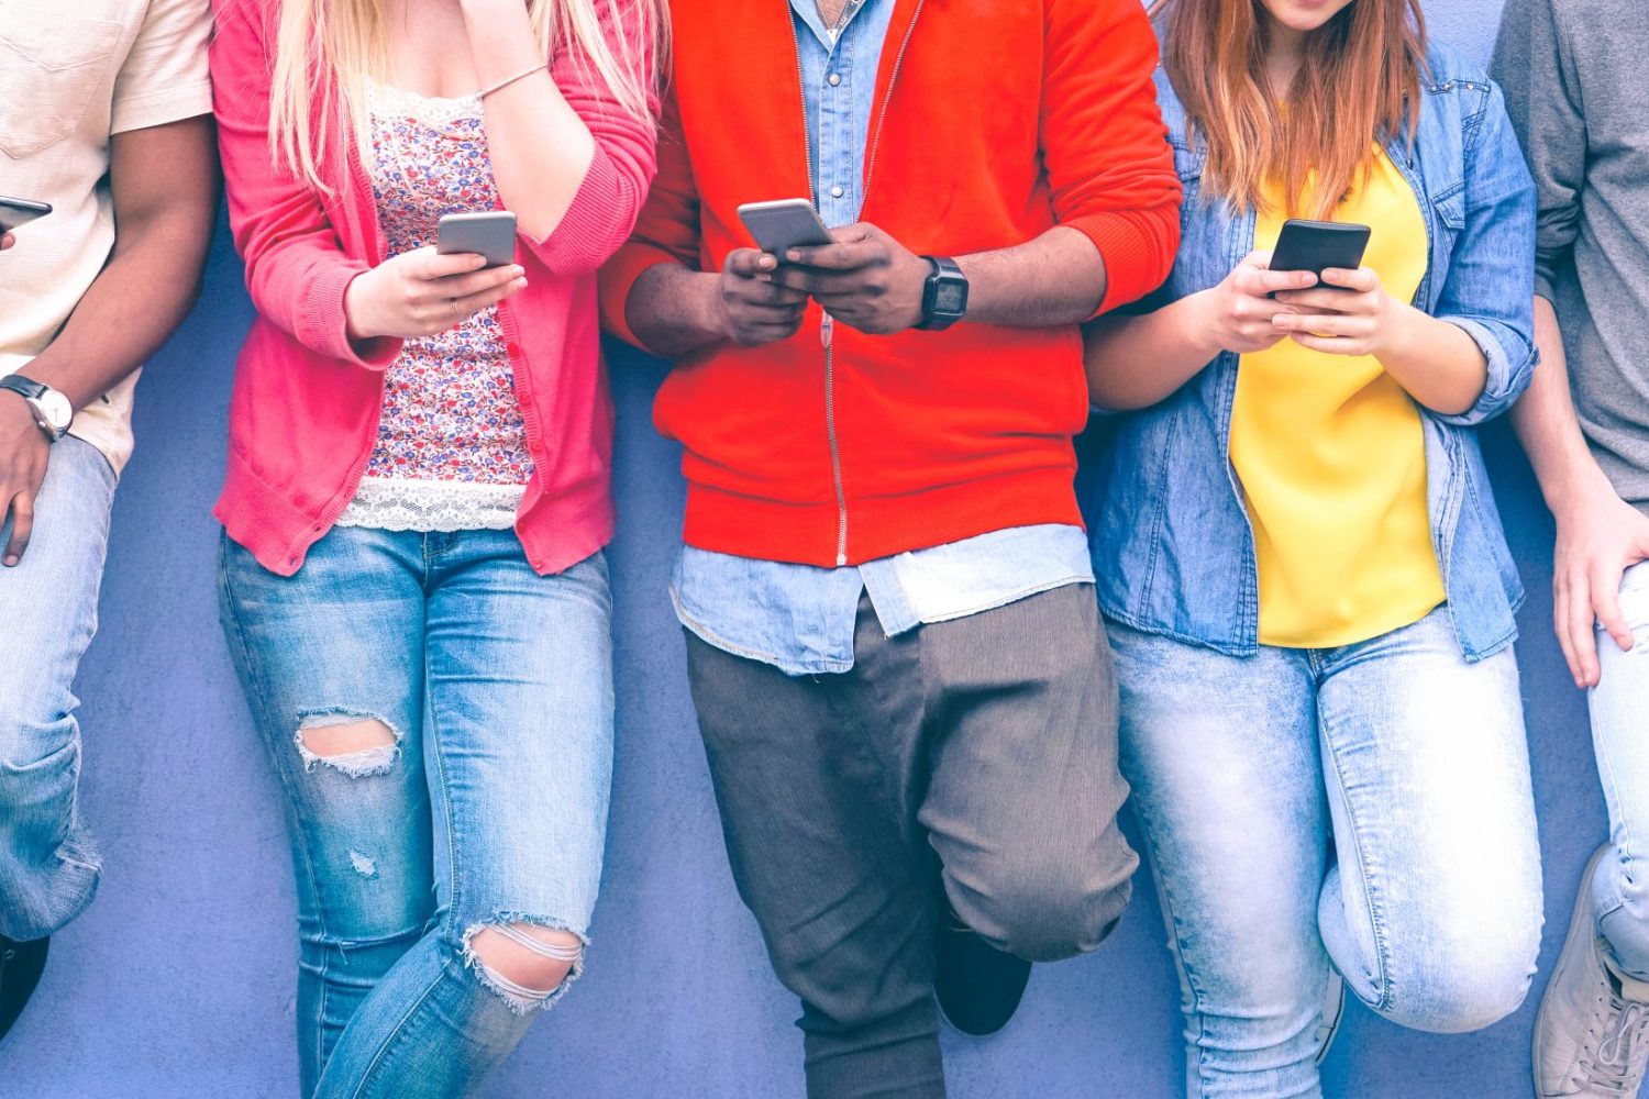
<path fill-rule="evenodd" d="M 38 939 L 97 891 L 97 855 L 76 812 L 81 727 L 74 672 L 97 631 L 114 470 L 73 435 L 51 448 L 35 534 L 0 567 L 0 934 Z M 0 522 L 0 545 L 12 524 Z"/>

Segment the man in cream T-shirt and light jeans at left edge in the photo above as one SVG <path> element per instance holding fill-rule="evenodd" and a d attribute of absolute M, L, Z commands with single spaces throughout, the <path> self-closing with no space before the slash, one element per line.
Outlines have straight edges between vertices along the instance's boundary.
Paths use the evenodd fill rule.
<path fill-rule="evenodd" d="M 0 3 L 0 1036 L 97 890 L 71 685 L 137 369 L 211 242 L 209 33 L 208 0 Z"/>

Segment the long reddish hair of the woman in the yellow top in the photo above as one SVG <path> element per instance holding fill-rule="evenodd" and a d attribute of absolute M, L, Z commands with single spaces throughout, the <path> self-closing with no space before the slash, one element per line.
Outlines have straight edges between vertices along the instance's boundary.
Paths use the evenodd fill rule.
<path fill-rule="evenodd" d="M 1260 0 L 1156 0 L 1163 64 L 1207 145 L 1204 194 L 1326 217 L 1370 168 L 1372 143 L 1413 140 L 1426 25 L 1420 0 L 1352 0 L 1306 36 L 1293 86 L 1266 77 Z M 1286 120 L 1285 120 L 1286 112 Z"/>

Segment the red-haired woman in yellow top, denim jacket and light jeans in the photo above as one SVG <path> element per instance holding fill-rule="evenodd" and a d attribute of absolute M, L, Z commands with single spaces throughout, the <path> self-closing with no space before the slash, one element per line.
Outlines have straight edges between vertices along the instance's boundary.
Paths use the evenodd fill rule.
<path fill-rule="evenodd" d="M 1088 341 L 1093 402 L 1131 410 L 1093 529 L 1121 768 L 1189 1092 L 1319 1096 L 1346 985 L 1464 1031 L 1534 974 L 1522 590 L 1476 437 L 1535 361 L 1534 186 L 1412 0 L 1156 18 L 1184 244 Z M 1367 252 L 1271 270 L 1288 216 Z"/>

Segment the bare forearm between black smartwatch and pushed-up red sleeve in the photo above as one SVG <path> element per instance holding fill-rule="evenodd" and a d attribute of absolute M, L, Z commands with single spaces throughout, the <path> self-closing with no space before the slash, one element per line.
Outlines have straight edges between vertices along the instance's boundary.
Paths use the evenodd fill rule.
<path fill-rule="evenodd" d="M 968 320 L 1050 328 L 1093 316 L 1105 300 L 1105 260 L 1082 232 L 1054 227 L 1008 249 L 956 259 L 968 277 Z"/>

